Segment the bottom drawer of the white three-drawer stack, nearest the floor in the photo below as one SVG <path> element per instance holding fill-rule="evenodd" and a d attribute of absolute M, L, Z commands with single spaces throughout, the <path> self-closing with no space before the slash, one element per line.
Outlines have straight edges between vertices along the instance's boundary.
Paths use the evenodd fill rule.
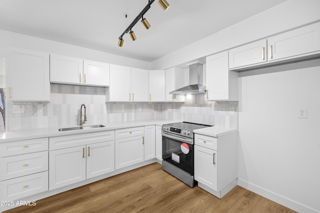
<path fill-rule="evenodd" d="M 0 182 L 0 200 L 13 201 L 48 190 L 48 171 Z"/>

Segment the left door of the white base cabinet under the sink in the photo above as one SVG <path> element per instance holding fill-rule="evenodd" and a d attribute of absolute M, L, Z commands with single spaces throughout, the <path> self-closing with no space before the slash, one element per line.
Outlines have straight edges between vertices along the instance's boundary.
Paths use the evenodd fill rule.
<path fill-rule="evenodd" d="M 49 152 L 49 190 L 85 180 L 85 146 Z"/>

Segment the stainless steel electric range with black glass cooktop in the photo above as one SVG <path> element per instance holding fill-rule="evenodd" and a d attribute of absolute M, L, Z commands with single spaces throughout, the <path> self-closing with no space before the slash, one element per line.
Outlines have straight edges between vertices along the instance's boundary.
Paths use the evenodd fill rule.
<path fill-rule="evenodd" d="M 162 169 L 190 187 L 194 181 L 193 130 L 210 125 L 179 122 L 162 125 Z"/>

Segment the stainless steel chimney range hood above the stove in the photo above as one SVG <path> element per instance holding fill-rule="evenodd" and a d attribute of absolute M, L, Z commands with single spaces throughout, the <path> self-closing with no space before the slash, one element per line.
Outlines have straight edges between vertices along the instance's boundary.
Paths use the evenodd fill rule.
<path fill-rule="evenodd" d="M 169 94 L 186 95 L 186 94 L 203 94 L 205 85 L 203 85 L 203 66 L 196 63 L 189 66 L 189 85 L 173 90 Z"/>

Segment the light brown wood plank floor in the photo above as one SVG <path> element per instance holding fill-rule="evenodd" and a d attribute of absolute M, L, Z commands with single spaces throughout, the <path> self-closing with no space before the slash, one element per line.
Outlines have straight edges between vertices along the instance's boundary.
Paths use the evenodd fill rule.
<path fill-rule="evenodd" d="M 4 213 L 295 213 L 236 186 L 222 199 L 154 163 Z"/>

